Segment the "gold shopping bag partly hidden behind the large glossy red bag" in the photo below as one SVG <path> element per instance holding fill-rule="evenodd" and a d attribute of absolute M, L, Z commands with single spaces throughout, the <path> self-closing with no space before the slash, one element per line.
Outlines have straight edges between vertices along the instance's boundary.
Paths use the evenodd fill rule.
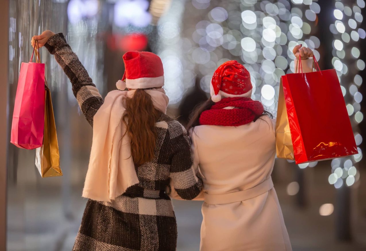
<path fill-rule="evenodd" d="M 285 97 L 283 93 L 282 78 L 277 107 L 276 120 L 276 153 L 277 158 L 295 160 L 294 147 L 292 145 L 290 124 L 288 123 Z"/>

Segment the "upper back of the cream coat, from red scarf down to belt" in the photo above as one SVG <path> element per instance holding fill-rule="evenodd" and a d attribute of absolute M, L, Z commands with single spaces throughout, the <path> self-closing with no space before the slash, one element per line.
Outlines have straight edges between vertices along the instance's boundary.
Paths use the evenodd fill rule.
<path fill-rule="evenodd" d="M 262 116 L 241 126 L 194 128 L 191 137 L 204 192 L 216 195 L 246 190 L 270 176 L 276 153 L 272 121 Z"/>

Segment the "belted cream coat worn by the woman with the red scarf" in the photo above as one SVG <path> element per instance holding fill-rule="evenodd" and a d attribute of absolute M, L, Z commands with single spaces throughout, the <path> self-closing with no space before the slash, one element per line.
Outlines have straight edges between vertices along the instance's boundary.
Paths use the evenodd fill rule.
<path fill-rule="evenodd" d="M 304 72 L 311 71 L 312 58 L 302 64 Z M 191 132 L 205 199 L 201 251 L 292 250 L 270 179 L 275 124 L 275 119 L 263 116 L 242 126 L 201 125 Z"/>

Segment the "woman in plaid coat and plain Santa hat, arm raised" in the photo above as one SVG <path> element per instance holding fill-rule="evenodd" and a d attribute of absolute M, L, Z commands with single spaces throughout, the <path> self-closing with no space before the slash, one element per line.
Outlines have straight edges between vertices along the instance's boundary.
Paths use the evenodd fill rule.
<path fill-rule="evenodd" d="M 133 79 L 134 72 L 132 72 L 136 69 L 129 72 L 126 64 L 126 83 L 127 87 L 130 85 L 132 88 L 124 92 L 112 91 L 104 101 L 62 33 L 45 31 L 33 37 L 33 44 L 34 40 L 38 40 L 40 47 L 44 45 L 55 55 L 56 61 L 71 81 L 72 91 L 83 114 L 90 125 L 94 125 L 93 147 L 83 192 L 84 197 L 92 199 L 86 204 L 73 250 L 176 250 L 176 219 L 165 189 L 172 180 L 175 192 L 183 199 L 190 200 L 201 191 L 202 181 L 192 167 L 190 141 L 186 130 L 179 122 L 165 114 L 168 99 L 161 88 L 164 82 L 163 76 L 152 78 L 142 76 L 136 80 Z M 156 65 L 161 67 L 157 72 L 162 75 L 161 60 L 152 54 L 130 52 L 126 53 L 124 60 L 126 63 L 128 59 L 145 57 L 148 61 L 149 58 L 154 58 L 157 63 L 154 62 L 151 67 Z M 154 69 L 150 69 L 151 71 Z M 119 99 L 123 102 L 113 103 Z M 108 127 L 113 121 L 112 117 L 115 116 L 113 112 L 115 106 L 106 105 L 107 100 L 117 108 L 120 106 L 124 111 L 120 114 L 122 119 L 116 124 L 122 128 L 121 132 L 116 127 L 117 132 L 113 132 L 111 136 L 119 133 L 123 147 L 120 144 L 117 146 L 120 147 L 121 153 L 127 148 L 130 156 L 119 158 L 120 152 L 117 152 L 115 155 L 117 160 L 113 158 L 115 145 L 112 148 L 111 143 L 112 158 L 109 160 L 111 163 L 103 162 L 104 166 L 98 166 L 94 164 L 100 159 L 95 159 L 95 156 L 105 157 L 103 151 L 105 145 L 108 148 L 108 143 L 98 142 L 97 145 L 94 141 L 98 139 L 100 131 L 104 130 L 106 135 L 109 133 L 108 129 L 101 126 L 106 122 L 100 118 L 104 116 L 109 119 Z M 117 113 L 119 110 L 116 110 Z M 111 112 L 107 117 L 106 111 Z M 111 137 L 111 142 L 114 142 L 114 138 Z M 129 140 L 124 144 L 123 140 L 126 138 Z M 126 173 L 119 172 L 119 168 L 122 162 L 123 170 L 127 170 L 128 161 L 132 162 L 133 170 L 129 170 L 131 176 L 126 177 Z M 104 170 L 105 166 L 109 169 L 100 172 L 100 177 L 96 176 L 95 172 Z M 108 187 L 102 184 L 104 176 L 108 176 L 106 179 Z M 130 186 L 126 188 L 126 184 Z"/>

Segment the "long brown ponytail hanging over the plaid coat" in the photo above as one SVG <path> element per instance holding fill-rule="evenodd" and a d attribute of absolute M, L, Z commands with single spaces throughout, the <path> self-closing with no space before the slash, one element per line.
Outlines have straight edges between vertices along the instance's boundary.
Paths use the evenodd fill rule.
<path fill-rule="evenodd" d="M 137 89 L 131 98 L 127 98 L 125 107 L 122 120 L 131 139 L 131 155 L 135 165 L 142 165 L 154 159 L 157 140 L 155 123 L 160 112 L 143 89 Z"/>

